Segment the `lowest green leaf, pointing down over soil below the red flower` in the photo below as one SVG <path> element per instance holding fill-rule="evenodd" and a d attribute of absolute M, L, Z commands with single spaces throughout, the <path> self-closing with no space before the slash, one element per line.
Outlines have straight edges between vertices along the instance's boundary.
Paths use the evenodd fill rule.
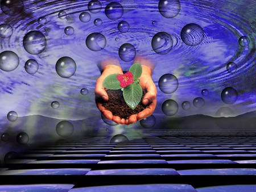
<path fill-rule="evenodd" d="M 123 89 L 123 98 L 129 107 L 133 110 L 137 107 L 142 97 L 142 87 L 141 85 L 135 83 L 130 84 L 125 89 Z"/>

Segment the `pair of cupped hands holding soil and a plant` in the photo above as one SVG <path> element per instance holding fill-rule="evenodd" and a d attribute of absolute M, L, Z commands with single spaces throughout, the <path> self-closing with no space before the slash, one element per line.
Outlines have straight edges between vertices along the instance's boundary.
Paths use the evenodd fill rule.
<path fill-rule="evenodd" d="M 142 87 L 142 90 L 146 91 L 144 97 L 142 98 L 142 104 L 148 105 L 143 111 L 138 114 L 131 115 L 129 119 L 121 119 L 119 116 L 115 116 L 111 111 L 106 110 L 105 107 L 102 106 L 100 102 L 98 102 L 98 98 L 102 98 L 104 101 L 108 101 L 109 96 L 106 92 L 105 87 L 103 86 L 103 82 L 106 77 L 110 74 L 119 73 L 123 74 L 122 68 L 120 67 L 119 61 L 117 59 L 104 60 L 101 62 L 101 66 L 104 66 L 101 76 L 98 78 L 95 87 L 95 95 L 96 95 L 96 104 L 98 109 L 104 114 L 104 116 L 113 120 L 117 124 L 133 124 L 141 119 L 147 118 L 152 115 L 156 107 L 156 86 L 151 78 L 152 74 L 152 62 L 143 57 L 135 58 L 134 62 L 139 62 L 142 65 L 142 75 L 139 78 L 141 82 L 139 83 Z"/>

